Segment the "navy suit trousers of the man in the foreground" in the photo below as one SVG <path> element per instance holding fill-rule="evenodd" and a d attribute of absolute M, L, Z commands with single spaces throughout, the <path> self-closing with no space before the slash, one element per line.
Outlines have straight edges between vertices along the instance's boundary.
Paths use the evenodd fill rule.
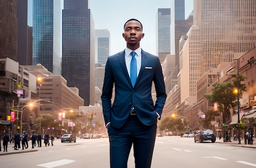
<path fill-rule="evenodd" d="M 157 118 L 156 118 L 157 119 Z M 108 127 L 110 168 L 127 168 L 133 145 L 135 168 L 150 168 L 155 146 L 157 124 L 146 126 L 137 115 L 129 115 L 121 128 Z"/>

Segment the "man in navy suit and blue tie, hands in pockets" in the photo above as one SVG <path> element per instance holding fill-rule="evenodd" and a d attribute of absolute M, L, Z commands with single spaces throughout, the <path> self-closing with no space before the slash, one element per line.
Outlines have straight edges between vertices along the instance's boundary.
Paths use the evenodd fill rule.
<path fill-rule="evenodd" d="M 108 57 L 101 95 L 110 141 L 110 167 L 127 168 L 133 145 L 135 167 L 150 168 L 157 118 L 160 119 L 166 100 L 162 67 L 157 56 L 140 48 L 144 33 L 139 20 L 130 19 L 124 24 L 123 38 L 126 49 Z M 155 105 L 151 96 L 152 82 L 157 97 Z"/>

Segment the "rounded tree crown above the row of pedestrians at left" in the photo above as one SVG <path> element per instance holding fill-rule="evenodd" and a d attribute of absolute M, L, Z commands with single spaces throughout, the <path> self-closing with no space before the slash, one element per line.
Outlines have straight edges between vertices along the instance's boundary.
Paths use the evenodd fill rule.
<path fill-rule="evenodd" d="M 36 118 L 35 123 L 40 123 L 41 127 L 47 130 L 47 128 L 57 127 L 58 126 L 58 117 L 51 114 L 42 114 Z"/>

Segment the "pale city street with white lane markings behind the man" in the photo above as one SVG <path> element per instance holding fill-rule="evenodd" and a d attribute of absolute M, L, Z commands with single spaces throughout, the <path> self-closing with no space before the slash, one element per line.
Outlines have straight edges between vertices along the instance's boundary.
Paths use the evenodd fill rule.
<path fill-rule="evenodd" d="M 156 137 L 152 168 L 195 168 L 195 167 L 256 167 L 256 145 L 237 145 L 238 141 L 221 143 L 204 141 L 194 142 L 193 138 Z M 13 152 L 13 144 L 9 144 L 8 151 Z M 247 147 L 247 148 L 246 148 Z M 31 141 L 29 148 L 31 149 Z M 109 167 L 109 144 L 108 138 L 101 139 L 76 139 L 76 143 L 61 143 L 55 139 L 54 146 L 42 148 L 38 151 L 18 153 L 12 155 L 0 155 L 1 166 L 16 167 L 26 165 L 26 168 L 108 168 Z M 17 150 L 17 151 L 25 151 Z M 1 154 L 3 152 L 0 152 Z M 134 168 L 133 151 L 131 150 L 128 160 L 128 168 Z"/>

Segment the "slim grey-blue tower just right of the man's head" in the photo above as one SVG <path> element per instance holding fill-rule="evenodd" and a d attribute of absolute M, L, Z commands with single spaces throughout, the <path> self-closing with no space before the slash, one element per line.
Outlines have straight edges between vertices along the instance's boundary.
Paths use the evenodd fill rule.
<path fill-rule="evenodd" d="M 156 16 L 156 53 L 161 63 L 170 54 L 171 9 L 158 9 Z"/>

